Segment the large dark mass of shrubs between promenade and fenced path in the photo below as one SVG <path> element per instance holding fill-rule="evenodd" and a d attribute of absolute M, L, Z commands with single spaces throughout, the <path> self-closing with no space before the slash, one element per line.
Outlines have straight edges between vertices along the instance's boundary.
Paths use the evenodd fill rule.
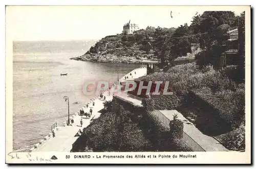
<path fill-rule="evenodd" d="M 115 101 L 105 102 L 106 112 L 95 119 L 73 144 L 72 152 L 191 151 L 173 139 L 159 119 L 140 110 L 131 113 Z"/>

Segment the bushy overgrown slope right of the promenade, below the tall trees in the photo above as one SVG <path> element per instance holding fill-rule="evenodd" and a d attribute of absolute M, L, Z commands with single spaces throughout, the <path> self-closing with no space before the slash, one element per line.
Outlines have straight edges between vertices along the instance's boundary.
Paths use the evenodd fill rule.
<path fill-rule="evenodd" d="M 199 70 L 196 63 L 188 63 L 174 66 L 167 73 L 141 77 L 138 81 L 169 81 L 169 89 L 174 91 L 173 95 L 152 95 L 152 99 L 146 99 L 144 103 L 147 107 L 178 109 L 185 105 L 189 90 L 194 90 L 201 99 L 219 110 L 220 117 L 231 123 L 235 131 L 244 121 L 245 106 L 244 83 L 234 81 L 232 79 L 234 76 L 230 75 L 236 70 L 234 66 L 221 71 L 214 70 L 210 66 Z M 240 131 L 244 135 L 243 130 Z M 225 137 L 228 139 L 222 139 L 224 146 L 233 150 L 241 148 L 232 133 L 227 133 Z"/>

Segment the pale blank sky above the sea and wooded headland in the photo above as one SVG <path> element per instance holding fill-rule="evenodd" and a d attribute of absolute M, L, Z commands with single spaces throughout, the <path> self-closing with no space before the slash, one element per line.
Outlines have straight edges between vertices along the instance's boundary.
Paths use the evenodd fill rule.
<path fill-rule="evenodd" d="M 6 29 L 20 41 L 101 39 L 121 33 L 130 19 L 140 29 L 176 28 L 207 10 L 243 11 L 239 6 L 8 6 Z"/>

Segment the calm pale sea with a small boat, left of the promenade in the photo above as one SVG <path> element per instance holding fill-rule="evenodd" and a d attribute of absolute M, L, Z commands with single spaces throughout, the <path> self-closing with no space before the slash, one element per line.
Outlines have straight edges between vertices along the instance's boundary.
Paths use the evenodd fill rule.
<path fill-rule="evenodd" d="M 62 125 L 95 95 L 84 95 L 88 80 L 116 81 L 139 64 L 93 63 L 70 60 L 89 50 L 93 41 L 14 42 L 13 44 L 13 149 L 30 148 Z M 68 76 L 60 76 L 68 74 Z M 78 104 L 73 104 L 78 102 Z"/>

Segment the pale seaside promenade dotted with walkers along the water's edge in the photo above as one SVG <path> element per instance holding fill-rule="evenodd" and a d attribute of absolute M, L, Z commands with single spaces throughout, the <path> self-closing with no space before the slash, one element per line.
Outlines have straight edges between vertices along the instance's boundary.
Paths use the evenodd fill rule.
<path fill-rule="evenodd" d="M 136 74 L 135 74 L 136 71 Z M 132 76 L 130 76 L 132 74 Z M 126 74 L 125 76 L 129 77 L 129 80 L 137 79 L 139 77 L 146 75 L 146 68 L 136 68 Z M 125 76 L 119 79 L 120 82 L 125 81 Z M 105 90 L 102 92 L 103 95 L 106 97 L 105 100 L 100 100 L 99 95 L 97 95 L 94 99 L 91 99 L 90 102 L 88 102 L 88 108 L 86 106 L 83 107 L 84 112 L 89 112 L 90 108 L 92 108 L 93 112 L 90 117 L 90 119 L 86 119 L 85 117 L 81 117 L 78 115 L 78 112 L 72 116 L 74 119 L 74 123 L 72 126 L 63 126 L 63 127 L 57 127 L 54 129 L 55 131 L 55 137 L 52 136 L 52 133 L 49 133 L 48 136 L 45 137 L 44 141 L 41 141 L 40 143 L 35 144 L 34 148 L 30 149 L 30 152 L 51 152 L 51 151 L 58 151 L 58 152 L 70 152 L 72 149 L 72 144 L 75 142 L 75 140 L 78 138 L 76 137 L 76 133 L 79 131 L 79 129 L 82 131 L 83 128 L 87 127 L 91 123 L 91 119 L 98 118 L 100 116 L 99 111 L 104 108 L 104 101 L 111 101 L 113 99 L 113 95 L 109 95 L 108 90 Z M 93 106 L 93 102 L 95 105 Z M 80 120 L 82 119 L 83 123 L 82 126 L 80 125 Z"/>

